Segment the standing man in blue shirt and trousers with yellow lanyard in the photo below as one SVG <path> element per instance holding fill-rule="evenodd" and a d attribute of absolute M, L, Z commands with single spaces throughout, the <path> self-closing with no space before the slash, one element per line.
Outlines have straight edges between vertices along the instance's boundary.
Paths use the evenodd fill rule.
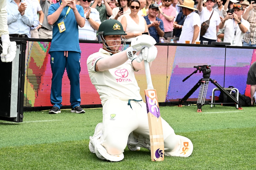
<path fill-rule="evenodd" d="M 50 64 L 52 70 L 51 103 L 49 114 L 60 113 L 62 106 L 61 84 L 67 70 L 70 81 L 70 104 L 72 113 L 85 113 L 80 107 L 79 73 L 81 50 L 78 40 L 78 25 L 85 24 L 83 8 L 75 0 L 63 0 L 49 7 L 48 23 L 53 25 L 53 39 L 50 46 Z"/>

